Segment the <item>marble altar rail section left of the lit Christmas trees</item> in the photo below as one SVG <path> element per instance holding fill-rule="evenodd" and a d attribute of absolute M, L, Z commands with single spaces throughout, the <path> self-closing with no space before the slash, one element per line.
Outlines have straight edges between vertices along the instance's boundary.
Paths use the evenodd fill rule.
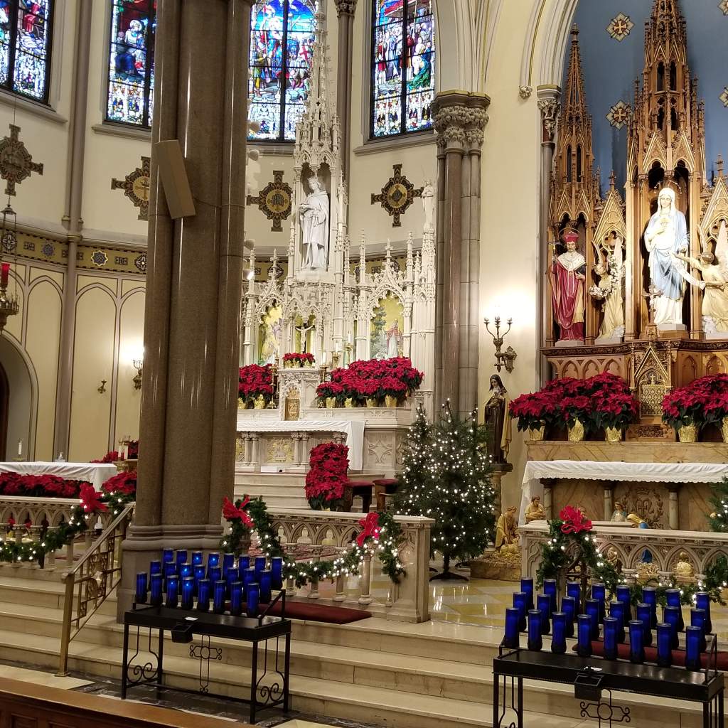
<path fill-rule="evenodd" d="M 331 513 L 305 509 L 269 508 L 280 541 L 293 551 L 294 545 L 304 545 L 312 558 L 326 558 L 321 554 L 344 553 L 361 530 L 361 513 Z M 309 598 L 337 606 L 365 609 L 376 617 L 398 622 L 426 622 L 430 620 L 430 526 L 434 521 L 419 516 L 396 516 L 403 531 L 400 561 L 407 573 L 398 584 L 390 583 L 386 596 L 372 594 L 373 580 L 381 582 L 381 562 L 371 553 L 361 568 L 360 576 L 336 579 L 336 594 L 331 599 L 320 596 L 318 581 L 309 584 Z M 328 547 L 328 548 L 327 548 Z M 331 555 L 331 558 L 336 558 Z M 384 577 L 387 579 L 387 577 Z M 355 589 L 352 593 L 352 582 Z M 288 584 L 289 593 L 296 593 Z"/>

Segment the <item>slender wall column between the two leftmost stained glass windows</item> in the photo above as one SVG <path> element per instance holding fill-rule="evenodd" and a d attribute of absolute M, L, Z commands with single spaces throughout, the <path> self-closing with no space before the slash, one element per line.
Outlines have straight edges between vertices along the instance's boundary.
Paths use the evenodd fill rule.
<path fill-rule="evenodd" d="M 74 331 L 76 329 L 76 253 L 82 240 L 84 221 L 81 217 L 84 190 L 84 151 L 86 143 L 86 108 L 89 85 L 89 51 L 91 47 L 91 3 L 76 8 L 76 56 L 74 58 L 74 106 L 68 145 L 68 181 L 66 214 L 68 258 L 63 287 L 63 314 L 60 320 L 60 353 L 58 356 L 58 388 L 55 400 L 53 452 L 68 457 L 71 435 L 71 388 L 74 376 Z"/>

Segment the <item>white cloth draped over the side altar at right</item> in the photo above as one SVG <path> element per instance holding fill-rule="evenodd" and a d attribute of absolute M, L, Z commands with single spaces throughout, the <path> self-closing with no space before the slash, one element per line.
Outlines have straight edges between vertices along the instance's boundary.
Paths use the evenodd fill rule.
<path fill-rule="evenodd" d="M 728 465 L 713 462 L 598 462 L 596 460 L 530 460 L 523 471 L 521 517 L 533 496 L 543 499 L 540 478 L 629 480 L 633 483 L 718 483 Z"/>

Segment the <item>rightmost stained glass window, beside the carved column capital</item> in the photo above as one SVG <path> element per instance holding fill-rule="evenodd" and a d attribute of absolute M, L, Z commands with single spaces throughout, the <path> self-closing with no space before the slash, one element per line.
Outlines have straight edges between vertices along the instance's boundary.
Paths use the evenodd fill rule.
<path fill-rule="evenodd" d="M 371 136 L 430 129 L 435 98 L 432 0 L 372 0 L 371 51 Z"/>

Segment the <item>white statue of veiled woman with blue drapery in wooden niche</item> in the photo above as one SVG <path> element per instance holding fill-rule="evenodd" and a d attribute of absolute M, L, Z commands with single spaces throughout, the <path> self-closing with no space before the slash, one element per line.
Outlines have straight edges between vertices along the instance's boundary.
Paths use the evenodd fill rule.
<path fill-rule="evenodd" d="M 684 263 L 673 253 L 687 253 L 688 237 L 685 215 L 676 207 L 675 192 L 665 187 L 657 198 L 657 212 L 650 218 L 644 233 L 649 253 L 649 280 L 655 296 L 651 300 L 657 326 L 683 325 Z"/>

